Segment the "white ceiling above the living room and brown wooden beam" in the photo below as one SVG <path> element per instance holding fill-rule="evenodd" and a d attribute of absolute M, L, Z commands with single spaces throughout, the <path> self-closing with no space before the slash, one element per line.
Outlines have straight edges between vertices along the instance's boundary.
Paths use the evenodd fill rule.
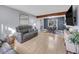
<path fill-rule="evenodd" d="M 7 5 L 35 16 L 67 11 L 69 5 Z"/>

